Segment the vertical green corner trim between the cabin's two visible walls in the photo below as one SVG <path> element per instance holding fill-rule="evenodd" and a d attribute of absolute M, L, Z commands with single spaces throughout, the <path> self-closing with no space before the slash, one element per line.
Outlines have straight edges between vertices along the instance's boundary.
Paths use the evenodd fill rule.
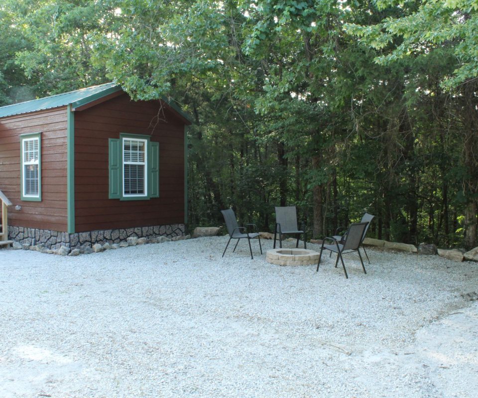
<path fill-rule="evenodd" d="M 75 233 L 75 113 L 67 105 L 67 213 L 68 233 Z"/>

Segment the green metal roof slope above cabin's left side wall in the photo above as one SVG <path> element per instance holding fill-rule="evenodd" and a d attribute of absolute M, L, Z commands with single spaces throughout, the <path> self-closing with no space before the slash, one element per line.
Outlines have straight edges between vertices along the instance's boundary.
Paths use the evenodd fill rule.
<path fill-rule="evenodd" d="M 68 104 L 80 106 L 93 100 L 105 97 L 109 94 L 116 93 L 120 90 L 121 87 L 119 87 L 117 84 L 106 83 L 100 86 L 92 86 L 86 89 L 70 91 L 69 93 L 40 98 L 38 100 L 14 103 L 12 105 L 1 106 L 0 117 L 56 108 L 58 106 L 65 106 Z"/>

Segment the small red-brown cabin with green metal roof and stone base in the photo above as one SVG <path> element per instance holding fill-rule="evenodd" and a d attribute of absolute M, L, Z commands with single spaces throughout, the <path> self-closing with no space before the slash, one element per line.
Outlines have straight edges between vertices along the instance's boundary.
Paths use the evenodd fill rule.
<path fill-rule="evenodd" d="M 0 107 L 0 241 L 185 235 L 190 124 L 171 101 L 132 101 L 115 83 Z"/>

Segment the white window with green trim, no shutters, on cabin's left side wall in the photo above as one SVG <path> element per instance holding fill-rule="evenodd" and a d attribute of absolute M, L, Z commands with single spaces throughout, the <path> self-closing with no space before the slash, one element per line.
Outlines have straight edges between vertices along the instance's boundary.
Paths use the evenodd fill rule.
<path fill-rule="evenodd" d="M 41 200 L 41 141 L 40 133 L 20 136 L 21 199 Z"/>

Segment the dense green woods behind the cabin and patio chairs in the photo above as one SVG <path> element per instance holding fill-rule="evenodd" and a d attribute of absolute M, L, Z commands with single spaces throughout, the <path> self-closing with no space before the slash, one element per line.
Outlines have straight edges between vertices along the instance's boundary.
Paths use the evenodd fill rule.
<path fill-rule="evenodd" d="M 189 129 L 189 220 L 477 246 L 478 0 L 5 0 L 0 104 L 116 81 Z M 0 187 L 1 188 L 1 187 Z"/>

